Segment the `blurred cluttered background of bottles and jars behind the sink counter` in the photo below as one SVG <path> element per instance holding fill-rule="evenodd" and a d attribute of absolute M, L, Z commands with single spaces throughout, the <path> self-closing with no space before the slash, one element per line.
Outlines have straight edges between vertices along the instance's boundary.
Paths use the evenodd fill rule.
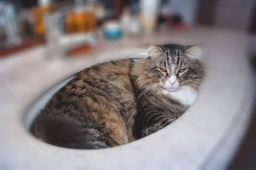
<path fill-rule="evenodd" d="M 93 51 L 102 38 L 150 37 L 192 26 L 254 34 L 256 1 L 0 0 L 0 57 L 40 44 L 47 45 L 48 57 L 76 56 Z"/>

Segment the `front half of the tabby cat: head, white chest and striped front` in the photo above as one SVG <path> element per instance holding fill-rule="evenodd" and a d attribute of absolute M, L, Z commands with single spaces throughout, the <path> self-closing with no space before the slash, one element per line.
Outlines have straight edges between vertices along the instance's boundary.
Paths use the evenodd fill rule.
<path fill-rule="evenodd" d="M 148 44 L 148 57 L 131 72 L 137 94 L 135 134 L 148 136 L 181 116 L 195 101 L 204 77 L 201 46 Z"/>

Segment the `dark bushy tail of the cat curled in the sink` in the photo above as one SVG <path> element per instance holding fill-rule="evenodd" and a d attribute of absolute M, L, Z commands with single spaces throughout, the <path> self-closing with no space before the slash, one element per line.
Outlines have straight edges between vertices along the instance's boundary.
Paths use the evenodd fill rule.
<path fill-rule="evenodd" d="M 60 147 L 90 149 L 87 134 L 63 116 L 39 115 L 33 122 L 32 134 L 38 139 Z"/>

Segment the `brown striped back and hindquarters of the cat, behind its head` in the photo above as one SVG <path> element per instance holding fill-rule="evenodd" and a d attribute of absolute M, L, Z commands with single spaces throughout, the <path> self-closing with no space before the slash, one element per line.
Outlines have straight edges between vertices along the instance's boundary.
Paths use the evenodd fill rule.
<path fill-rule="evenodd" d="M 57 115 L 64 117 L 66 122 L 73 122 L 77 127 L 76 133 L 84 133 L 87 145 L 80 148 L 106 148 L 134 141 L 137 106 L 130 76 L 132 64 L 131 59 L 124 59 L 81 71 L 49 100 L 35 119 L 32 133 L 44 142 L 60 145 L 56 142 L 59 136 L 55 132 L 60 131 L 58 129 L 65 122 L 59 123 L 63 120 L 56 119 Z M 44 125 L 47 121 L 42 120 L 45 119 L 52 119 L 51 122 L 60 125 L 52 125 L 55 126 L 52 129 Z M 47 128 L 51 128 L 51 136 L 46 133 L 49 131 Z M 65 134 L 67 129 L 63 131 Z M 82 136 L 73 141 L 65 139 L 70 141 L 65 147 L 77 148 L 80 139 L 84 140 Z"/>

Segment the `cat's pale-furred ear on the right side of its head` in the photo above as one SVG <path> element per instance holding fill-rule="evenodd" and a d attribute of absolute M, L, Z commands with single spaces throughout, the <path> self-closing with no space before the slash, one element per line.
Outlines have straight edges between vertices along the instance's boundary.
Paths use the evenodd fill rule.
<path fill-rule="evenodd" d="M 188 45 L 185 49 L 185 54 L 188 57 L 195 58 L 198 60 L 201 60 L 202 58 L 202 47 L 203 43 L 197 44 L 197 45 Z"/>

